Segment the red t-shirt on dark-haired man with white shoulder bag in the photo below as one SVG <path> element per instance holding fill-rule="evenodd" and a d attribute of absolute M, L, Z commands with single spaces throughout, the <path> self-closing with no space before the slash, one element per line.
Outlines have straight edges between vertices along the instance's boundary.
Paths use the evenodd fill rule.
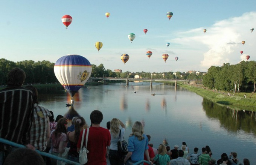
<path fill-rule="evenodd" d="M 81 131 L 77 147 L 81 147 L 81 140 L 82 140 L 82 133 Z M 85 130 L 84 135 L 84 146 L 85 146 L 85 139 L 86 139 L 87 129 Z M 88 144 L 87 153 L 88 162 L 87 165 L 107 165 L 106 162 L 106 153 L 107 153 L 107 146 L 110 146 L 110 132 L 108 129 L 102 127 L 90 127 L 89 128 L 89 135 L 88 135 Z"/>

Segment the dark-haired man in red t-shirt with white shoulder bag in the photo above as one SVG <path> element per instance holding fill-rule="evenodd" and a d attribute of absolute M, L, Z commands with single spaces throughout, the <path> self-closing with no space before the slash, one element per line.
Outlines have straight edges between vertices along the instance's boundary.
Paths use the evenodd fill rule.
<path fill-rule="evenodd" d="M 87 165 L 106 165 L 106 153 L 107 147 L 110 146 L 110 132 L 108 129 L 105 129 L 100 126 L 101 121 L 103 119 L 103 115 L 101 111 L 94 110 L 91 112 L 90 120 L 91 120 L 91 127 L 89 129 L 88 134 L 88 144 L 87 153 L 88 162 Z M 86 134 L 88 129 L 85 130 L 84 135 L 84 145 Z M 81 131 L 78 144 L 77 144 L 77 151 L 80 151 L 81 141 L 82 141 L 82 133 Z"/>

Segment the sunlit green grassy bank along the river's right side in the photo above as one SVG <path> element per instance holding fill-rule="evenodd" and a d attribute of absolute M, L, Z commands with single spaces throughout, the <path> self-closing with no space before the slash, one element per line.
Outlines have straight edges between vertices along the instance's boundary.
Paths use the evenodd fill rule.
<path fill-rule="evenodd" d="M 230 108 L 235 108 L 237 110 L 256 111 L 255 94 L 251 96 L 251 93 L 239 93 L 235 94 L 234 96 L 228 96 L 227 92 L 222 94 L 222 92 L 213 92 L 212 90 L 203 89 L 202 87 L 198 86 L 190 86 L 182 83 L 178 85 L 220 105 L 229 106 Z M 244 98 L 245 94 L 247 95 L 246 98 Z"/>

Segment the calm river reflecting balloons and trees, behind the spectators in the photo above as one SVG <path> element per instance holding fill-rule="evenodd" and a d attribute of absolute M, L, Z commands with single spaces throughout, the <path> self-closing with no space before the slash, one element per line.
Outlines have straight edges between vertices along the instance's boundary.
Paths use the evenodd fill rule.
<path fill-rule="evenodd" d="M 151 88 L 150 82 L 130 82 L 125 86 L 115 83 L 83 87 L 74 96 L 73 107 L 89 125 L 93 110 L 103 113 L 101 126 L 105 128 L 107 121 L 119 118 L 126 125 L 126 140 L 133 123 L 141 121 L 154 148 L 164 139 L 171 149 L 175 144 L 181 147 L 185 141 L 190 153 L 194 147 L 201 153 L 201 148 L 209 145 L 216 160 L 222 153 L 236 152 L 240 162 L 248 158 L 255 164 L 255 112 L 232 110 L 181 87 L 175 89 L 173 84 L 153 83 Z M 58 114 L 69 116 L 66 104 L 70 96 L 63 89 L 39 89 L 38 93 L 39 105 L 53 111 L 55 118 Z"/>

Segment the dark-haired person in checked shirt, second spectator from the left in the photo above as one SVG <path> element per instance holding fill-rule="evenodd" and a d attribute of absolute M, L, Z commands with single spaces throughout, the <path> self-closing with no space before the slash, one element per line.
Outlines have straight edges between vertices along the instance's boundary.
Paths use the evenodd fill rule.
<path fill-rule="evenodd" d="M 27 89 L 32 90 L 34 95 L 34 118 L 30 130 L 30 144 L 39 151 L 46 151 L 47 140 L 50 139 L 50 119 L 49 110 L 38 106 L 38 92 L 33 86 L 26 86 Z M 46 161 L 46 157 L 43 157 Z"/>

